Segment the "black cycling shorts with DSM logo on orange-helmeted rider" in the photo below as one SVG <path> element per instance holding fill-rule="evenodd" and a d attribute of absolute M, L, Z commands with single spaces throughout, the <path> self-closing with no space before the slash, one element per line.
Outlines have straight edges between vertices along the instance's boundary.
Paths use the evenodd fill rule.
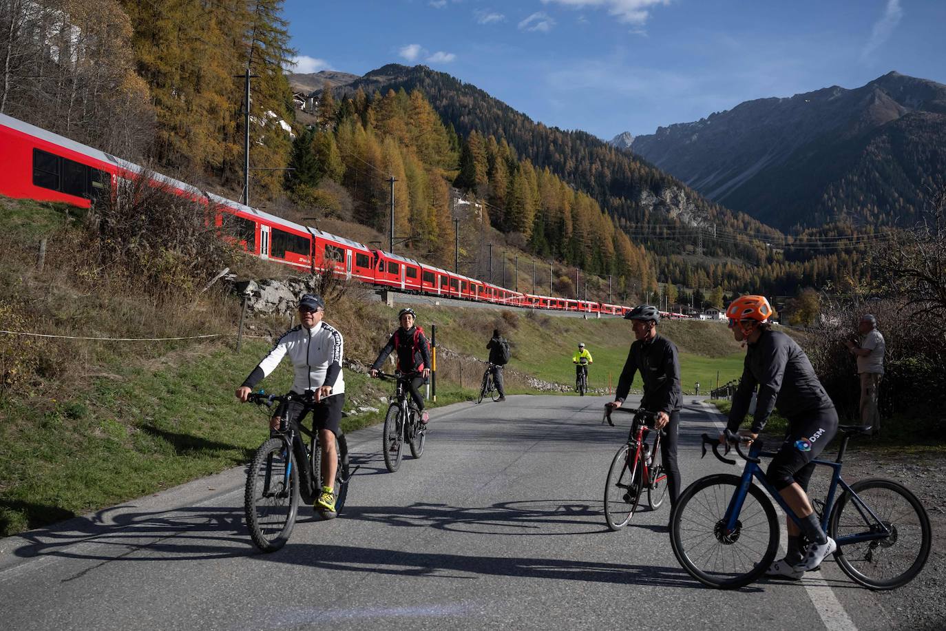
<path fill-rule="evenodd" d="M 798 482 L 808 490 L 808 482 L 815 472 L 812 461 L 817 458 L 837 432 L 837 411 L 821 408 L 803 412 L 788 419 L 788 433 L 779 452 L 769 463 L 765 477 L 776 490 Z"/>

